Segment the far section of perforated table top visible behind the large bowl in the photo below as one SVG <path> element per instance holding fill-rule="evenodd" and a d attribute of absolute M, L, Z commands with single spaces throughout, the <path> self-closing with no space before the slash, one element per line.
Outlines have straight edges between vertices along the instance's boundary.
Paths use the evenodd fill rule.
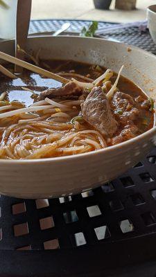
<path fill-rule="evenodd" d="M 80 33 L 80 30 L 83 28 L 83 26 L 89 26 L 90 24 L 90 21 L 85 20 L 34 20 L 31 21 L 29 33 L 52 32 L 58 30 L 58 28 L 60 28 L 64 22 L 70 22 L 71 26 L 68 31 L 73 33 Z M 101 28 L 105 26 L 112 26 L 112 24 L 103 21 L 98 22 L 98 30 L 101 30 Z M 146 51 L 156 54 L 156 45 L 153 42 L 153 39 L 150 37 L 148 28 L 123 28 L 107 33 L 107 35 L 103 34 L 101 37 L 105 37 L 107 39 L 116 39 L 119 42 L 132 44 L 133 46 L 143 48 Z"/>

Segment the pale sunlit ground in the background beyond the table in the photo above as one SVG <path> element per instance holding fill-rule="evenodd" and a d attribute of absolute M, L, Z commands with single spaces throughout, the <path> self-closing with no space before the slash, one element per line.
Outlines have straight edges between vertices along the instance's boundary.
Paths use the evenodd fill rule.
<path fill-rule="evenodd" d="M 124 0 L 125 1 L 125 0 Z M 92 0 L 33 0 L 32 19 L 64 18 L 102 21 L 135 21 L 146 18 L 147 6 L 155 0 L 138 0 L 137 10 L 96 10 Z M 112 8 L 114 0 L 112 1 Z"/>

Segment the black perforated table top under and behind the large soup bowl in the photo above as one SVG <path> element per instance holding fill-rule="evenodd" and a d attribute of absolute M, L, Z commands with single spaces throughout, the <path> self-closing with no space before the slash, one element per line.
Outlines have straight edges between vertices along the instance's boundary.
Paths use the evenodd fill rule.
<path fill-rule="evenodd" d="M 30 32 L 63 22 L 32 21 Z M 137 28 L 128 32 L 114 35 L 156 53 L 148 30 L 139 40 Z M 100 188 L 49 200 L 1 195 L 0 207 L 0 276 L 156 276 L 156 148 Z"/>

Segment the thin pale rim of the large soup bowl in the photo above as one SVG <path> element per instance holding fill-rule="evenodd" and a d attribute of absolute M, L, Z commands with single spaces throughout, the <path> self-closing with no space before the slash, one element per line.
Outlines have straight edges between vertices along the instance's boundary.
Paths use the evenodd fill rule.
<path fill-rule="evenodd" d="M 152 6 L 155 6 L 156 5 L 152 5 Z M 149 6 L 148 8 L 152 7 L 152 6 Z M 152 10 L 151 10 L 152 11 Z M 155 13 L 155 12 L 154 12 Z M 37 39 L 37 38 L 45 38 L 45 37 L 51 37 L 50 35 L 43 35 L 43 36 L 40 36 L 40 33 L 39 33 L 39 36 L 35 35 L 34 37 L 31 36 L 31 37 L 28 37 L 28 39 Z M 155 61 L 156 61 L 156 55 L 154 55 L 153 53 L 150 53 L 148 51 L 145 51 L 144 49 L 141 49 L 137 46 L 132 46 L 130 44 L 125 44 L 123 42 L 114 42 L 112 40 L 109 40 L 109 39 L 103 39 L 103 38 L 100 38 L 100 37 L 80 37 L 80 36 L 77 36 L 77 35 L 58 35 L 57 37 L 55 37 L 55 39 L 57 38 L 78 38 L 78 39 L 96 39 L 96 40 L 100 40 L 100 41 L 105 41 L 105 42 L 111 42 L 112 44 L 120 44 L 124 47 L 127 47 L 130 46 L 130 48 L 132 49 L 136 49 L 137 51 L 140 51 L 150 57 L 153 57 L 155 58 Z M 54 37 L 53 37 L 54 38 Z M 14 41 L 15 39 L 10 39 L 9 41 L 12 42 Z M 8 42 L 8 40 L 3 40 L 3 42 Z M 0 42 L 1 44 L 1 42 Z M 119 143 L 119 144 L 116 144 L 116 145 L 112 145 L 112 146 L 109 146 L 108 148 L 102 148 L 100 150 L 94 150 L 94 151 L 91 151 L 91 152 L 87 152 L 87 153 L 82 153 L 82 154 L 75 154 L 75 155 L 70 155 L 70 156 L 62 156 L 62 157 L 51 157 L 51 158 L 44 158 L 44 159 L 0 159 L 0 165 L 1 164 L 28 164 L 28 163 L 59 163 L 61 161 L 66 161 L 66 160 L 73 160 L 73 159 L 82 159 L 83 157 L 92 157 L 92 156 L 95 156 L 97 154 L 105 154 L 109 151 L 113 151 L 113 150 L 119 150 L 119 148 L 126 148 L 126 146 L 134 143 L 134 142 L 138 142 L 138 141 L 141 141 L 141 139 L 144 139 L 144 137 L 146 136 L 150 136 L 152 134 L 156 134 L 156 125 L 153 126 L 151 129 L 149 129 L 148 131 L 144 132 L 143 134 L 140 134 L 139 136 L 136 136 L 135 138 L 132 138 L 128 141 L 123 141 L 122 143 Z"/>

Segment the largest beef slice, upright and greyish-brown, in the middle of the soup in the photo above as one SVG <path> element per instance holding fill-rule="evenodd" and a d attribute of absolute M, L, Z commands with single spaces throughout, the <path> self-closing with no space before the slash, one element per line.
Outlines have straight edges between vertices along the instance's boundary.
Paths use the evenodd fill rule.
<path fill-rule="evenodd" d="M 110 103 L 101 87 L 94 87 L 82 105 L 83 118 L 101 134 L 112 136 L 118 123 L 112 114 Z"/>

